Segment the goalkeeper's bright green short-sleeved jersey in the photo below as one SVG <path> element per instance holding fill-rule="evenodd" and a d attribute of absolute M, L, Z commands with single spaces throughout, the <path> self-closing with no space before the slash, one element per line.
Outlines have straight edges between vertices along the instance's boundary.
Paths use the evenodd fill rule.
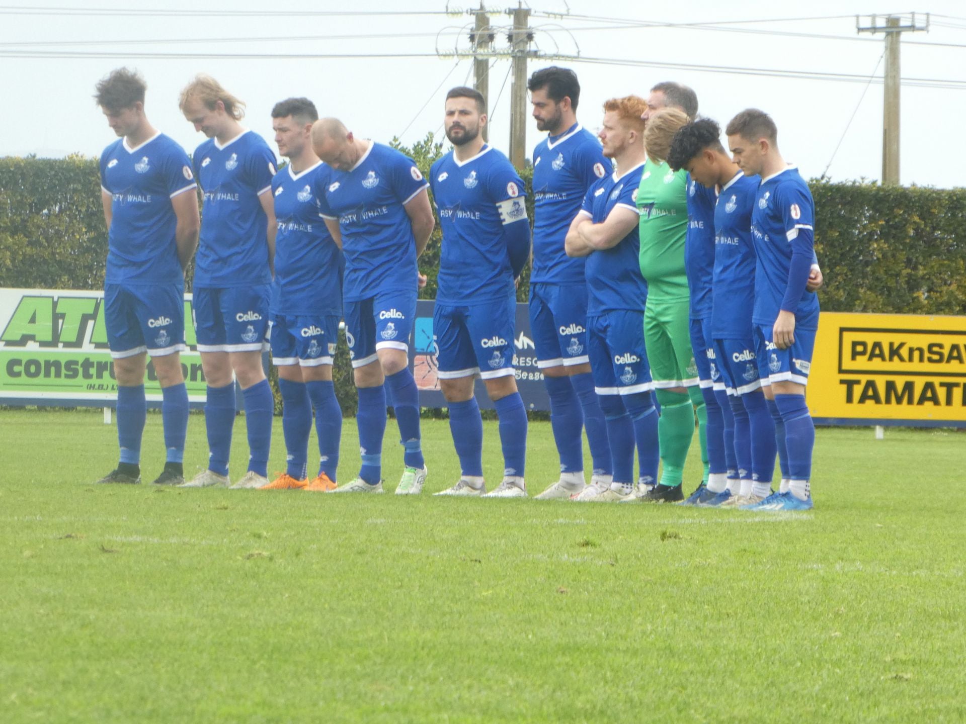
<path fill-rule="evenodd" d="M 688 298 L 684 239 L 688 234 L 688 173 L 650 159 L 638 187 L 640 273 L 647 280 L 647 301 Z"/>

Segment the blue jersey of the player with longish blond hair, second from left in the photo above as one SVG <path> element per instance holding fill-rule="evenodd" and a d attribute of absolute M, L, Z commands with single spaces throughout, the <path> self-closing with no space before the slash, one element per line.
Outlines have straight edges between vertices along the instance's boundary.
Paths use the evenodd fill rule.
<path fill-rule="evenodd" d="M 275 154 L 245 130 L 224 146 L 209 138 L 192 161 L 204 198 L 194 286 L 270 284 L 269 217 L 259 196 L 271 187 Z"/>

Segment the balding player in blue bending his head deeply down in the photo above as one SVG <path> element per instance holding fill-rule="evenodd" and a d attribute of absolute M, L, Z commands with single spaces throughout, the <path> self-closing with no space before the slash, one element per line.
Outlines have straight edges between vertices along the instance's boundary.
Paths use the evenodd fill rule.
<path fill-rule="evenodd" d="M 386 390 L 405 448 L 396 494 L 417 494 L 426 480 L 419 434 L 419 394 L 409 369 L 416 311 L 416 257 L 435 221 L 412 158 L 355 138 L 334 118 L 312 126 L 312 146 L 327 164 L 315 181 L 329 233 L 345 253 L 346 341 L 358 389 L 362 466 L 334 492 L 383 492 Z"/>

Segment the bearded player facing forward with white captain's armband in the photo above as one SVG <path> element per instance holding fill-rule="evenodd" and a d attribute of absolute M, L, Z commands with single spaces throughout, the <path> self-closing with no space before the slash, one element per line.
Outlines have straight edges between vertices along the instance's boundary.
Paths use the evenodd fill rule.
<path fill-rule="evenodd" d="M 456 485 L 437 494 L 526 497 L 526 407 L 513 369 L 515 282 L 530 253 L 526 187 L 506 156 L 483 141 L 485 102 L 472 88 L 446 94 L 443 123 L 453 150 L 430 172 L 442 229 L 433 330 L 461 468 Z M 490 492 L 477 375 L 497 408 L 503 449 L 502 481 Z"/>

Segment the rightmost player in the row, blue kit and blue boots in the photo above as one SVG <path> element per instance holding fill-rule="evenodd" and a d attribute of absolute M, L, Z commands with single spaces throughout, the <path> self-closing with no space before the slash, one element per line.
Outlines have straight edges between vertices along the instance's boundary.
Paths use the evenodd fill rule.
<path fill-rule="evenodd" d="M 798 169 L 781 157 L 778 128 L 767 113 L 742 111 L 725 133 L 745 175 L 761 177 L 752 209 L 755 354 L 767 364 L 765 395 L 781 413 L 788 464 L 787 487 L 782 480 L 778 492 L 747 507 L 810 510 L 815 428 L 805 387 L 818 330 L 818 297 L 807 289 L 814 261 L 814 204 Z"/>

